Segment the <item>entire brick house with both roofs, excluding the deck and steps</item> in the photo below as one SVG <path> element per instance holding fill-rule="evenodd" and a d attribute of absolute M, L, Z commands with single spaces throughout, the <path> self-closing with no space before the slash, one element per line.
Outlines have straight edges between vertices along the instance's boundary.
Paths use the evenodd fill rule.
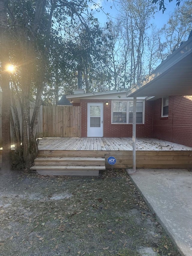
<path fill-rule="evenodd" d="M 129 91 L 84 93 L 66 98 L 81 106 L 81 137 L 136 135 L 192 147 L 192 37 Z"/>

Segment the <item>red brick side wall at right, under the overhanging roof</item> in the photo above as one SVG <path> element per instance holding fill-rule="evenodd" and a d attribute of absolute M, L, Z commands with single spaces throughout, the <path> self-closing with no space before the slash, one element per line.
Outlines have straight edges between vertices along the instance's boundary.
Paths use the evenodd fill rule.
<path fill-rule="evenodd" d="M 161 117 L 161 99 L 154 101 L 153 137 L 192 147 L 192 96 L 169 97 L 168 117 Z"/>

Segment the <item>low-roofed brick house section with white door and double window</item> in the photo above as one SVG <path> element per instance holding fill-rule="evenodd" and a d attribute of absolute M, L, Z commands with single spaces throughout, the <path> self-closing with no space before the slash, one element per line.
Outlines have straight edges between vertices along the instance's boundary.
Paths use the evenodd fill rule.
<path fill-rule="evenodd" d="M 81 106 L 81 137 L 132 137 L 133 97 L 127 91 L 81 93 L 66 96 Z M 137 136 L 152 136 L 152 102 L 137 99 Z"/>

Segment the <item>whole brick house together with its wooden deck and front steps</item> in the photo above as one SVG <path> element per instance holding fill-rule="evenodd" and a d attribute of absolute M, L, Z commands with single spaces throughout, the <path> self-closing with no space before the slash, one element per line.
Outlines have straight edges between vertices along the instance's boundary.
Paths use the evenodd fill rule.
<path fill-rule="evenodd" d="M 134 171 L 191 168 L 191 71 L 192 37 L 129 91 L 85 94 L 79 87 L 66 98 L 80 106 L 81 136 L 42 139 L 32 169 L 40 174 L 98 175 L 110 167 L 110 156 L 116 158 L 115 168 Z M 133 141 L 128 138 L 132 136 Z"/>

